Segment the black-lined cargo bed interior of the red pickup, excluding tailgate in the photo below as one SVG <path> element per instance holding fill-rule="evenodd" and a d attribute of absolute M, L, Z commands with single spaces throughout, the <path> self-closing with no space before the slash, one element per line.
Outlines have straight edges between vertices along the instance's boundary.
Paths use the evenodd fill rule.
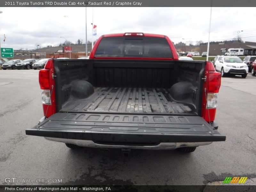
<path fill-rule="evenodd" d="M 56 111 L 199 115 L 204 62 L 56 60 Z"/>

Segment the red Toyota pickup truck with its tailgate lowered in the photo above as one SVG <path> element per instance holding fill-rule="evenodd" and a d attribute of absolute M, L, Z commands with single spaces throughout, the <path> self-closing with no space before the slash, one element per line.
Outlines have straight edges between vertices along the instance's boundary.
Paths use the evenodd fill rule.
<path fill-rule="evenodd" d="M 214 122 L 220 73 L 178 60 L 165 35 L 103 35 L 90 59 L 48 60 L 39 84 L 44 117 L 26 134 L 69 148 L 188 153 L 226 139 Z"/>

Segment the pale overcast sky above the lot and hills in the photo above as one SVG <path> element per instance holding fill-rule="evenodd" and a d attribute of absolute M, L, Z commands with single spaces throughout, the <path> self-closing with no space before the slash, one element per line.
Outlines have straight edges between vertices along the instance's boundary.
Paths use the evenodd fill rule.
<path fill-rule="evenodd" d="M 229 40 L 237 35 L 256 42 L 254 7 L 212 8 L 211 41 Z M 246 10 L 246 12 L 244 12 Z M 5 7 L 0 8 L 1 47 L 36 49 L 36 45 L 58 46 L 65 37 L 72 43 L 85 42 L 85 8 Z M 97 36 L 144 32 L 169 36 L 178 43 L 208 41 L 210 7 L 94 7 Z M 92 40 L 92 7 L 87 8 L 87 40 Z M 239 33 L 240 32 L 240 33 Z M 5 44 L 4 44 L 5 34 Z"/>

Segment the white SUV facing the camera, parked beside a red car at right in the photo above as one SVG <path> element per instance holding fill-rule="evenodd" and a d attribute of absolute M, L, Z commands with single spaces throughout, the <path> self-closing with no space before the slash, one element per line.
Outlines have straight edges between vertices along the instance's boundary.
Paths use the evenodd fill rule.
<path fill-rule="evenodd" d="M 215 61 L 216 71 L 220 71 L 221 76 L 241 75 L 245 78 L 248 74 L 248 66 L 237 56 L 220 56 Z"/>

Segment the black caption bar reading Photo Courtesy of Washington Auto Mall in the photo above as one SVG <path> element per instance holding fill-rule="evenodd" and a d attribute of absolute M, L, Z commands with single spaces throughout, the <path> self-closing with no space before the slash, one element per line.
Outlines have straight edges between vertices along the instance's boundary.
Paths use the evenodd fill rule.
<path fill-rule="evenodd" d="M 194 178 L 195 179 L 195 178 Z M 218 192 L 255 192 L 255 185 L 242 185 L 242 184 L 223 184 L 223 185 L 2 185 L 0 186 L 0 192 L 206 192 L 206 191 L 218 191 Z"/>

